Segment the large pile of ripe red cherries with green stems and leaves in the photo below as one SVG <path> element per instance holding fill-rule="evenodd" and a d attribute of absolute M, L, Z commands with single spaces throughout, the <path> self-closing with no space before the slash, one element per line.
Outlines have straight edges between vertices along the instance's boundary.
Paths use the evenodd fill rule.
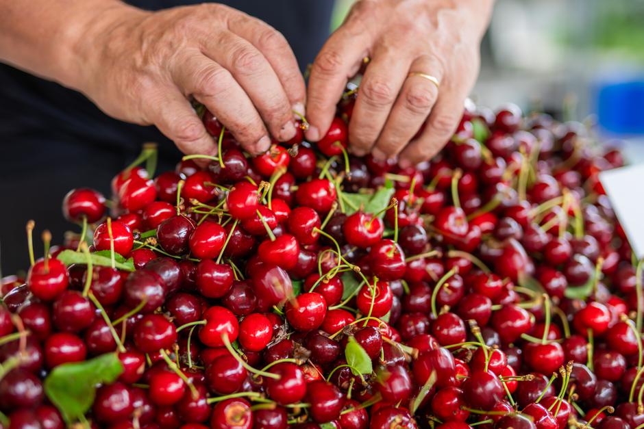
<path fill-rule="evenodd" d="M 353 101 L 252 159 L 206 112 L 220 158 L 72 190 L 83 232 L 3 281 L 1 425 L 643 428 L 620 153 L 473 107 L 401 169 L 347 153 Z"/>

